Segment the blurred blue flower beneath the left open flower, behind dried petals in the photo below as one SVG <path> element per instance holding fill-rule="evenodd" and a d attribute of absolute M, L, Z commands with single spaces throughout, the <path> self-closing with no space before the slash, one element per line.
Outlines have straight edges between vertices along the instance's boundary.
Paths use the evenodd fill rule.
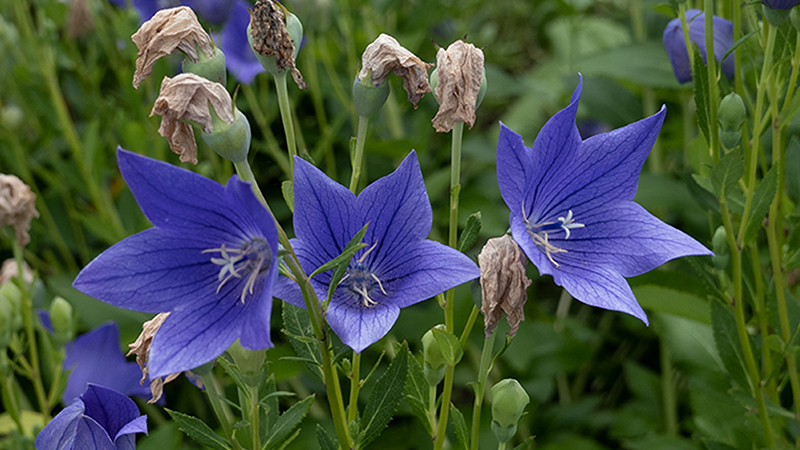
<path fill-rule="evenodd" d="M 142 371 L 122 354 L 119 327 L 109 322 L 78 336 L 66 345 L 64 370 L 70 371 L 62 399 L 69 404 L 89 383 L 113 389 L 126 396 L 150 399 L 150 383 L 142 385 Z"/>

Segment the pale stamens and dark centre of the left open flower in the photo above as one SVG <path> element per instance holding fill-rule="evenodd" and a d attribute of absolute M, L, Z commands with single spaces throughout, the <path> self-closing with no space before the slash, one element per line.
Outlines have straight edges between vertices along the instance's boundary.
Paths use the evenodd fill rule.
<path fill-rule="evenodd" d="M 263 238 L 252 238 L 245 241 L 239 248 L 227 248 L 225 244 L 222 244 L 219 248 L 203 250 L 203 253 L 220 254 L 220 258 L 211 258 L 212 263 L 220 266 L 217 293 L 229 280 L 247 277 L 240 297 L 242 303 L 247 294 L 253 294 L 258 276 L 269 270 L 272 262 L 272 250 L 269 248 L 269 243 Z"/>

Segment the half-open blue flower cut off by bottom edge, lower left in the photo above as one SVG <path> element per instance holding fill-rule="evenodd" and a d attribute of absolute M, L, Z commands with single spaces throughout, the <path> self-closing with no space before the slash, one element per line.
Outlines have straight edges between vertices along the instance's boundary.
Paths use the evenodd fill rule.
<path fill-rule="evenodd" d="M 147 416 L 140 416 L 128 397 L 95 384 L 61 410 L 39 432 L 37 450 L 134 450 L 135 433 L 147 434 Z"/>

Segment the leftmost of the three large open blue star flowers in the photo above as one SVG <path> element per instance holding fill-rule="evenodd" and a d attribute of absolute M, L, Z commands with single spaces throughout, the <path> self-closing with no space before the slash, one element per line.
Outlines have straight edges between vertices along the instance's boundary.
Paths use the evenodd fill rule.
<path fill-rule="evenodd" d="M 150 347 L 151 378 L 212 361 L 236 339 L 271 347 L 277 229 L 250 184 L 233 176 L 222 186 L 122 149 L 117 157 L 155 228 L 103 252 L 73 286 L 121 308 L 171 313 Z"/>

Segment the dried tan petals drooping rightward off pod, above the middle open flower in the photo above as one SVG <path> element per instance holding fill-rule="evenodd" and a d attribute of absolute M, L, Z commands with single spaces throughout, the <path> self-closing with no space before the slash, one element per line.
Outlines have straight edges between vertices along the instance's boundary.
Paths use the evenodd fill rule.
<path fill-rule="evenodd" d="M 428 64 L 400 45 L 388 34 L 381 34 L 367 46 L 361 55 L 361 72 L 358 79 L 363 80 L 372 71 L 372 83 L 383 84 L 390 72 L 403 79 L 403 88 L 408 93 L 408 101 L 417 107 L 422 96 L 431 91 L 428 82 Z"/>

